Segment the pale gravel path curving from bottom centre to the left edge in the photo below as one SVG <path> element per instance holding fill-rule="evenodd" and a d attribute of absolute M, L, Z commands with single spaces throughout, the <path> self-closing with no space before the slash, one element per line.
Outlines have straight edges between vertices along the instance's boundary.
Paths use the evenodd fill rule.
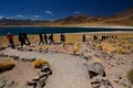
<path fill-rule="evenodd" d="M 90 77 L 82 58 L 60 53 L 38 53 L 7 48 L 1 51 L 6 55 L 22 58 L 45 58 L 52 68 L 52 76 L 44 88 L 91 88 Z"/>

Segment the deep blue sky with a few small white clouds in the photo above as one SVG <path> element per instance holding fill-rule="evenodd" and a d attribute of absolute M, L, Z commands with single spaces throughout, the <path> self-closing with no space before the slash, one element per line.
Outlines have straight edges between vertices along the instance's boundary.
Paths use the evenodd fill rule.
<path fill-rule="evenodd" d="M 0 0 L 0 19 L 57 20 L 68 15 L 111 15 L 133 0 Z"/>

